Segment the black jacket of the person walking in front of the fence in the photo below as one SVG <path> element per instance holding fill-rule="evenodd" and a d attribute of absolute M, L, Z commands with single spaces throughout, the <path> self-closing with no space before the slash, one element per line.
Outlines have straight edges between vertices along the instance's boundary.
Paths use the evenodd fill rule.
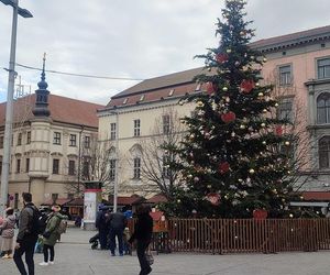
<path fill-rule="evenodd" d="M 135 223 L 134 233 L 132 234 L 129 242 L 138 241 L 150 241 L 153 233 L 153 218 L 148 213 L 142 213 L 138 216 Z"/>

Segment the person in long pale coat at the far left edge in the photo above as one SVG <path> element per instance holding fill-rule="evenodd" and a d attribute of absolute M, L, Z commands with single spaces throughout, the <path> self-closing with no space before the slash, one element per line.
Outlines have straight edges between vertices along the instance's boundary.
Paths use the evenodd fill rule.
<path fill-rule="evenodd" d="M 12 257 L 11 253 L 12 253 L 14 228 L 15 228 L 15 217 L 13 215 L 13 209 L 7 208 L 6 216 L 7 216 L 6 219 L 0 226 L 1 238 L 2 238 L 1 252 L 3 253 L 2 258 L 10 258 Z"/>

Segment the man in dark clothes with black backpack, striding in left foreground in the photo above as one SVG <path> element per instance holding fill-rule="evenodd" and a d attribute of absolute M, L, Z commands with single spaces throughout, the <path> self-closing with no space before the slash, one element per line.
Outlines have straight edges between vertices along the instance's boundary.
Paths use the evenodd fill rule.
<path fill-rule="evenodd" d="M 33 217 L 38 212 L 36 207 L 32 204 L 32 195 L 23 193 L 22 195 L 24 208 L 20 213 L 19 233 L 16 238 L 16 245 L 13 260 L 18 270 L 22 275 L 28 275 L 22 255 L 25 253 L 25 262 L 28 265 L 29 275 L 34 275 L 33 252 L 37 240 L 37 230 L 35 228 L 35 220 Z"/>

